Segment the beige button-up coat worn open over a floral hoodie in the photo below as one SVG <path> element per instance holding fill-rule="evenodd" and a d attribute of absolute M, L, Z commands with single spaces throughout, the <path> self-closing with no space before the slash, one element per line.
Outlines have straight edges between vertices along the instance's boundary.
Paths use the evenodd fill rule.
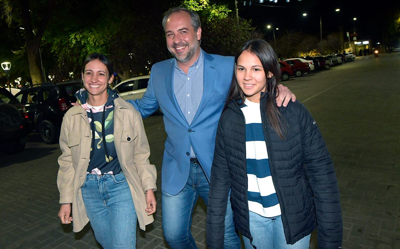
<path fill-rule="evenodd" d="M 156 167 L 148 159 L 150 147 L 142 117 L 122 100 L 114 100 L 114 144 L 122 172 L 128 182 L 138 217 L 139 227 L 154 221 L 148 216 L 145 191 L 156 189 Z M 86 110 L 74 106 L 65 114 L 60 133 L 57 185 L 60 203 L 72 203 L 73 231 L 79 232 L 89 222 L 80 187 L 86 178 L 92 143 Z"/>

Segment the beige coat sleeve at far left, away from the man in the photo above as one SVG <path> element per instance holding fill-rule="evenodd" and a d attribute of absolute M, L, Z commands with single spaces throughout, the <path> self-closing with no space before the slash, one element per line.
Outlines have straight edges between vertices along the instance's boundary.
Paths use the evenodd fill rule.
<path fill-rule="evenodd" d="M 74 193 L 74 177 L 75 169 L 72 165 L 71 149 L 68 146 L 68 127 L 67 118 L 64 116 L 61 125 L 60 132 L 60 149 L 62 154 L 58 157 L 58 169 L 57 175 L 57 186 L 60 192 L 60 202 L 59 203 L 72 203 L 73 193 Z"/>

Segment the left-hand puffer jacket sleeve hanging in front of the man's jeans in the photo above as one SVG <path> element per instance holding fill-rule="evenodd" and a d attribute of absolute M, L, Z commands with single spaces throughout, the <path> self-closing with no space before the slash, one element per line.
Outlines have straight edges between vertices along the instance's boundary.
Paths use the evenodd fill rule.
<path fill-rule="evenodd" d="M 206 237 L 209 248 L 224 247 L 225 214 L 231 177 L 224 149 L 222 117 L 218 123 L 208 194 Z"/>

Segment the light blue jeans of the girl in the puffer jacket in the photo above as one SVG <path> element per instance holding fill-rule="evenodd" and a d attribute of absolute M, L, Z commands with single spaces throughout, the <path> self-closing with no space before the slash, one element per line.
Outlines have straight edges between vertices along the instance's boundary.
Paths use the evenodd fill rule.
<path fill-rule="evenodd" d="M 250 233 L 253 236 L 252 244 L 257 249 L 308 249 L 310 246 L 310 235 L 300 239 L 293 245 L 286 244 L 286 237 L 283 231 L 282 218 L 280 215 L 267 218 L 252 211 L 250 214 Z M 250 239 L 242 236 L 246 249 L 253 249 Z"/>

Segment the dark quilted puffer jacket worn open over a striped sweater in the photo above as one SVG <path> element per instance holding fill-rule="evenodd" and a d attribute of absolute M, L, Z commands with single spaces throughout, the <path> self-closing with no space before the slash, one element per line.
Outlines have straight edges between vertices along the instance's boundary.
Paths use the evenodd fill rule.
<path fill-rule="evenodd" d="M 343 224 L 338 184 L 320 130 L 305 106 L 298 101 L 290 102 L 286 108 L 279 108 L 288 125 L 285 139 L 280 139 L 265 115 L 263 103 L 266 98 L 268 96 L 261 100 L 261 120 L 286 243 L 294 244 L 317 227 L 318 248 L 341 248 Z M 252 241 L 245 127 L 242 111 L 238 104 L 231 102 L 218 124 L 211 169 L 207 207 L 207 244 L 210 248 L 223 248 L 230 188 L 236 228 Z"/>

